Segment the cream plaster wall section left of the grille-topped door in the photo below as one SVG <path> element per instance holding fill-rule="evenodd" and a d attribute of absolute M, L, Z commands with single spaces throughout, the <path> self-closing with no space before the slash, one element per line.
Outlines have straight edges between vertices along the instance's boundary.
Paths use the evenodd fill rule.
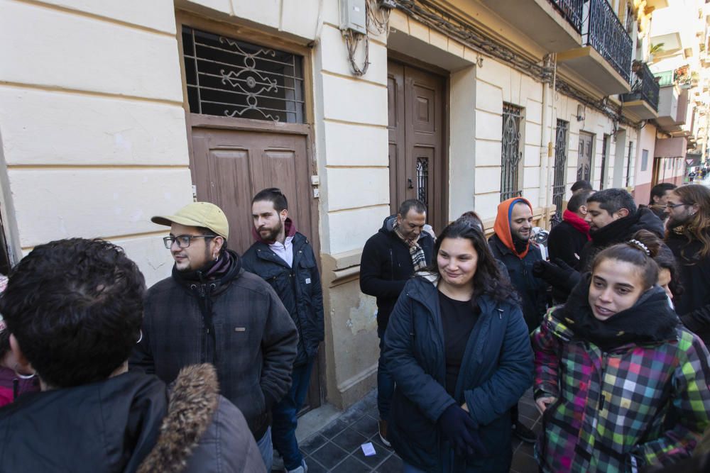
<path fill-rule="evenodd" d="M 108 238 L 170 273 L 150 217 L 192 200 L 173 2 L 4 0 L 0 133 L 16 254 Z M 61 124 L 61 126 L 59 126 Z"/>

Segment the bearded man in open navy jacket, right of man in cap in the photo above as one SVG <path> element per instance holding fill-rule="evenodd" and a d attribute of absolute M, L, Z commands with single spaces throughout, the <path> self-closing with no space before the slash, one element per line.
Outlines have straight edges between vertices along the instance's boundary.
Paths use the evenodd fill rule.
<path fill-rule="evenodd" d="M 305 401 L 310 375 L 323 340 L 323 291 L 313 248 L 288 216 L 288 201 L 271 187 L 251 199 L 252 235 L 244 269 L 266 280 L 280 297 L 298 329 L 298 354 L 291 388 L 273 408 L 273 446 L 287 473 L 305 473 L 307 466 L 296 440 L 297 414 Z"/>

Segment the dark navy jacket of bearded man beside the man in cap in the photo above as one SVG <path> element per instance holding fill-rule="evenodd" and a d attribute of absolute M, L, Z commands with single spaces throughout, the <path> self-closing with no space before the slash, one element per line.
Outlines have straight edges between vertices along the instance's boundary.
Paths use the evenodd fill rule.
<path fill-rule="evenodd" d="M 271 284 L 298 329 L 298 355 L 294 366 L 304 365 L 318 353 L 323 341 L 323 289 L 308 239 L 293 235 L 293 262 L 288 264 L 258 241 L 241 258 L 244 269 Z"/>

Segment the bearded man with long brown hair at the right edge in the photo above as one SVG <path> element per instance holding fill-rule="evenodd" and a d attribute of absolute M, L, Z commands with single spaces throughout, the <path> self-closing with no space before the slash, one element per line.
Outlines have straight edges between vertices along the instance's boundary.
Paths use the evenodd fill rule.
<path fill-rule="evenodd" d="M 666 203 L 666 244 L 680 267 L 683 294 L 675 309 L 684 325 L 710 346 L 710 189 L 687 184 Z"/>

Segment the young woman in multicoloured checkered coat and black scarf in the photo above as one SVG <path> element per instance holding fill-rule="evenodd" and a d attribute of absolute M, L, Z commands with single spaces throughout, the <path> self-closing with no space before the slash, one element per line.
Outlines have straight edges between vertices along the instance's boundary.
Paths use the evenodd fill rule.
<path fill-rule="evenodd" d="M 710 423 L 709 354 L 642 243 L 599 253 L 532 334 L 543 472 L 635 472 L 691 455 Z"/>

